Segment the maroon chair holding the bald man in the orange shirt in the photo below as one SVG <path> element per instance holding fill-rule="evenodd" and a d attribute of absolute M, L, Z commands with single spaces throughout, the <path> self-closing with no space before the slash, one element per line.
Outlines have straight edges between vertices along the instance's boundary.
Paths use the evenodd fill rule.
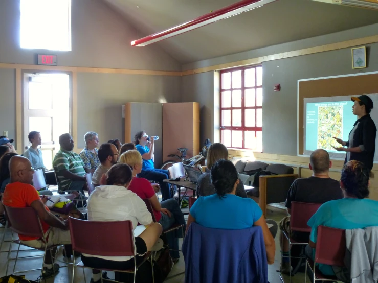
<path fill-rule="evenodd" d="M 3 203 L 4 204 L 4 203 Z M 31 257 L 40 257 L 41 255 L 35 255 L 35 256 L 23 256 L 23 257 L 18 257 L 19 253 L 19 248 L 22 246 L 29 247 L 23 243 L 19 239 L 14 240 L 14 233 L 17 234 L 23 234 L 28 237 L 37 237 L 43 239 L 43 242 L 47 243 L 47 240 L 45 238 L 45 233 L 43 233 L 42 225 L 40 222 L 40 219 L 36 213 L 36 211 L 32 207 L 25 207 L 25 208 L 16 208 L 16 207 L 11 207 L 8 205 L 4 204 L 5 208 L 5 214 L 7 216 L 7 225 L 8 228 L 11 229 L 12 231 L 12 240 L 11 240 L 11 246 L 9 248 L 8 252 L 8 260 L 7 260 L 7 269 L 5 272 L 5 275 L 8 274 L 8 268 L 9 268 L 9 263 L 11 260 L 15 260 L 14 267 L 13 267 L 13 274 L 16 273 L 24 273 L 28 271 L 34 271 L 34 270 L 41 270 L 41 276 L 43 272 L 43 263 L 45 262 L 45 257 L 46 257 L 46 252 L 50 252 L 50 256 L 52 256 L 51 250 L 59 247 L 60 245 L 53 245 L 50 247 L 45 246 L 44 248 L 34 248 L 35 250 L 43 251 L 43 261 L 42 261 L 42 267 L 41 268 L 36 268 L 36 269 L 29 269 L 29 270 L 23 270 L 23 271 L 15 271 L 16 269 L 16 264 L 17 260 L 21 258 L 31 258 Z M 16 257 L 11 257 L 11 248 L 12 248 L 12 243 L 18 244 L 18 250 Z M 30 247 L 29 247 L 30 248 Z M 66 267 L 61 266 L 61 267 Z"/>

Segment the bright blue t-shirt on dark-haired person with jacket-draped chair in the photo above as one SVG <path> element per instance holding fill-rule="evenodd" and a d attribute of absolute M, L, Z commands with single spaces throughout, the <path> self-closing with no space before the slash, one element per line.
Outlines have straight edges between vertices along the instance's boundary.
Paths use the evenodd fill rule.
<path fill-rule="evenodd" d="M 199 197 L 190 208 L 190 214 L 204 227 L 236 230 L 252 227 L 262 216 L 262 210 L 250 198 L 230 194 L 219 198 L 214 194 Z"/>

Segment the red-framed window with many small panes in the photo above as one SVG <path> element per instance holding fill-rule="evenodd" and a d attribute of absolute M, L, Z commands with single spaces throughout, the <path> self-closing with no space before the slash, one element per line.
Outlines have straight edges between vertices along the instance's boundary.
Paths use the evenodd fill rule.
<path fill-rule="evenodd" d="M 262 66 L 220 72 L 220 141 L 262 151 Z"/>

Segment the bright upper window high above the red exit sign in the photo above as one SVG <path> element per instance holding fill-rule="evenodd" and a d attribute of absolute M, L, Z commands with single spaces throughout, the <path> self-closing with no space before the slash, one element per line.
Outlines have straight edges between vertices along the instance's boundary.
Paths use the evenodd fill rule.
<path fill-rule="evenodd" d="M 71 0 L 21 0 L 21 48 L 71 51 Z"/>

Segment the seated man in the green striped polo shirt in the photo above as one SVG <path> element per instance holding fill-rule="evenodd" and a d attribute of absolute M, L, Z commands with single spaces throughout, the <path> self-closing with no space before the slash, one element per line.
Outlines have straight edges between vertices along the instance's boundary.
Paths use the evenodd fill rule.
<path fill-rule="evenodd" d="M 83 176 L 91 172 L 84 166 L 80 156 L 73 152 L 74 140 L 70 134 L 59 136 L 60 150 L 54 157 L 53 167 L 58 179 L 58 189 L 60 191 L 82 191 L 86 188 L 86 180 Z"/>

